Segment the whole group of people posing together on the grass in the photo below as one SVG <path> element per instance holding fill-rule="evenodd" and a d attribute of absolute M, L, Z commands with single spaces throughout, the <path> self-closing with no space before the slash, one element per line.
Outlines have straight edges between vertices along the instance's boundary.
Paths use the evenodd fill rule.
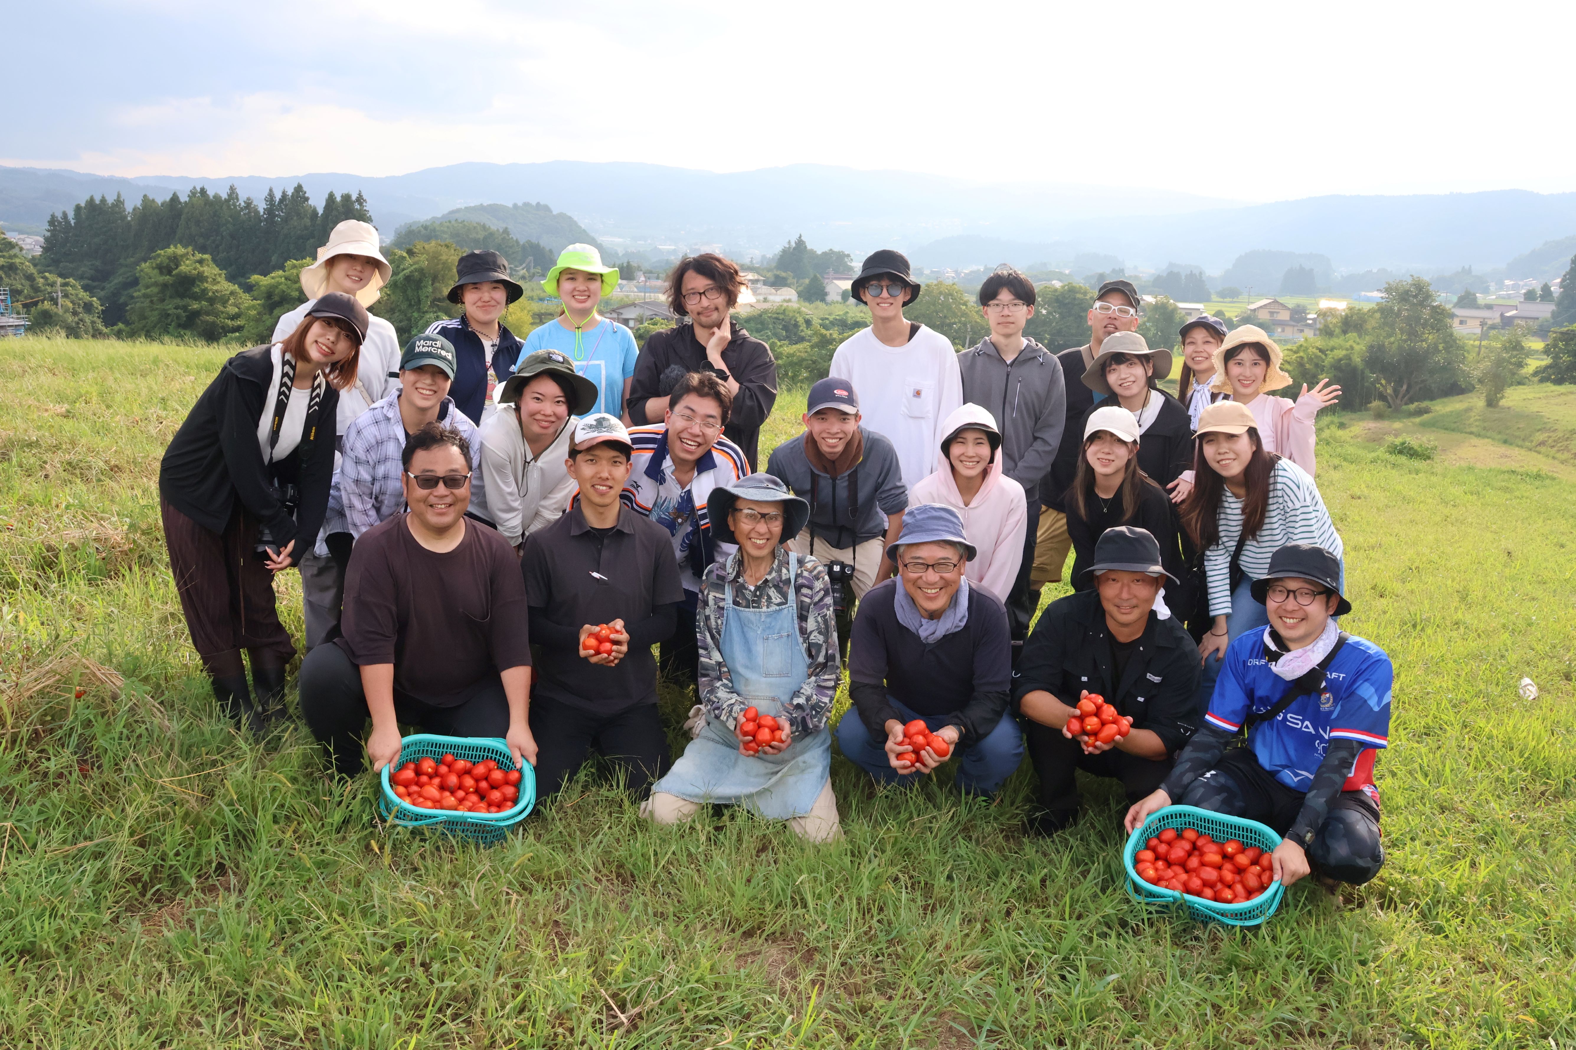
<path fill-rule="evenodd" d="M 1127 280 L 1097 290 L 1087 345 L 1051 353 L 1024 335 L 1034 283 L 1002 268 L 990 334 L 957 353 L 905 318 L 908 260 L 875 252 L 851 288 L 870 326 L 758 471 L 775 364 L 731 313 L 730 260 L 673 269 L 679 324 L 643 348 L 597 312 L 618 271 L 593 246 L 563 252 L 559 316 L 523 342 L 495 252 L 460 258 L 460 315 L 403 348 L 367 313 L 388 275 L 377 231 L 340 224 L 307 302 L 225 362 L 164 457 L 181 608 L 238 723 L 282 713 L 271 576 L 296 567 L 299 710 L 344 775 L 394 760 L 405 723 L 504 738 L 541 797 L 596 752 L 659 823 L 742 804 L 823 842 L 835 732 L 876 784 L 957 762 L 979 797 L 1028 752 L 1032 833 L 1076 820 L 1081 768 L 1121 781 L 1128 828 L 1171 803 L 1269 823 L 1283 882 L 1379 871 L 1392 669 L 1338 627 L 1314 483 L 1340 390 L 1275 395 L 1261 329 L 1184 324 L 1173 397 Z M 1034 620 L 1069 554 L 1073 592 Z M 676 760 L 659 675 L 697 690 Z M 1089 696 L 1132 732 L 1069 734 Z"/>

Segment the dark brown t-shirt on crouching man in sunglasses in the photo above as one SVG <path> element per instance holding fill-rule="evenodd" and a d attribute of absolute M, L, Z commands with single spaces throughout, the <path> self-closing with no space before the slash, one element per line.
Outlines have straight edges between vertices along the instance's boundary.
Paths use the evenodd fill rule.
<path fill-rule="evenodd" d="M 452 551 L 429 551 L 407 516 L 356 540 L 336 644 L 356 666 L 394 664 L 397 694 L 457 707 L 500 671 L 531 664 L 520 560 L 507 540 L 474 521 Z"/>

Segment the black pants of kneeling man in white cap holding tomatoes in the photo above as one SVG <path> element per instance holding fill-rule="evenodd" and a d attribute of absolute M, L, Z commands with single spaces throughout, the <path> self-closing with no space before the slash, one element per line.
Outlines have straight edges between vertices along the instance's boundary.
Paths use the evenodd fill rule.
<path fill-rule="evenodd" d="M 624 775 L 626 787 L 637 798 L 645 798 L 651 782 L 668 768 L 668 738 L 656 704 L 599 715 L 536 696 L 531 699 L 531 735 L 536 737 L 537 798 L 558 792 L 593 748 Z"/>

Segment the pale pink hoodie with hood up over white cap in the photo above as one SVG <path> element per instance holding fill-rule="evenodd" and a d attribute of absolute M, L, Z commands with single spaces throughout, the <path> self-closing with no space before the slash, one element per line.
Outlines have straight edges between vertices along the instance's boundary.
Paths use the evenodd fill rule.
<path fill-rule="evenodd" d="M 996 434 L 996 419 L 979 405 L 961 405 L 941 423 L 942 441 L 963 427 L 988 430 Z M 952 463 L 946 450 L 935 474 L 927 475 L 908 493 L 909 507 L 916 504 L 944 504 L 963 518 L 963 535 L 979 549 L 979 557 L 968 564 L 963 575 L 971 584 L 988 590 L 1001 601 L 1007 600 L 1012 584 L 1023 564 L 1023 531 L 1028 527 L 1029 507 L 1023 485 L 1001 472 L 1001 450 L 985 468 L 980 491 L 974 502 L 965 505 L 958 483 L 952 479 Z"/>

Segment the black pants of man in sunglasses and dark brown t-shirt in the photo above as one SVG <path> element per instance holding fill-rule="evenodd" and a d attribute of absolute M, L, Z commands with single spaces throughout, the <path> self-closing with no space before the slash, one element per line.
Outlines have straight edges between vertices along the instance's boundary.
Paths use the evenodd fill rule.
<path fill-rule="evenodd" d="M 501 678 L 457 707 L 433 707 L 396 690 L 394 715 L 444 737 L 503 737 L 509 732 L 509 699 Z M 301 718 L 336 771 L 355 776 L 366 768 L 361 740 L 370 716 L 361 669 L 350 663 L 345 650 L 325 642 L 309 652 L 301 661 Z"/>

